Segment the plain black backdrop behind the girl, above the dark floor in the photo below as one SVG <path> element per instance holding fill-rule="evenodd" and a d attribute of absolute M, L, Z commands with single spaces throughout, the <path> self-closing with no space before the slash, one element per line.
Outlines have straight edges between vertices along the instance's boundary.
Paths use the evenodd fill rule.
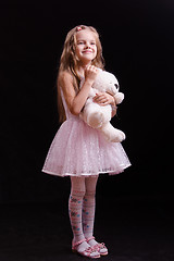
<path fill-rule="evenodd" d="M 100 35 L 105 69 L 125 101 L 112 121 L 126 133 L 133 166 L 101 176 L 99 195 L 173 198 L 172 0 L 2 3 L 0 5 L 0 202 L 45 202 L 66 197 L 69 178 L 41 173 L 59 128 L 58 62 L 66 33 L 78 24 Z"/>

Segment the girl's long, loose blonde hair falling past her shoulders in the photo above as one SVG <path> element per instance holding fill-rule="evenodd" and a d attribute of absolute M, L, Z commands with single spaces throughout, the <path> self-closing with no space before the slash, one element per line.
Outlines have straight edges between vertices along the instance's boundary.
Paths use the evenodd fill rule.
<path fill-rule="evenodd" d="M 72 74 L 73 76 L 73 83 L 74 83 L 74 89 L 76 92 L 79 90 L 79 83 L 80 83 L 80 77 L 77 73 L 77 59 L 75 55 L 75 45 L 76 45 L 76 33 L 82 30 L 82 29 L 88 29 L 95 33 L 96 35 L 96 45 L 97 45 L 97 55 L 96 58 L 91 61 L 91 64 L 104 69 L 104 59 L 102 57 L 102 47 L 101 42 L 99 39 L 99 34 L 96 30 L 95 27 L 92 26 L 86 26 L 86 25 L 78 25 L 71 29 L 65 38 L 64 41 L 64 47 L 62 51 L 62 55 L 60 59 L 60 66 L 59 66 L 59 73 L 58 73 L 58 109 L 59 109 L 59 115 L 60 115 L 60 122 L 65 121 L 65 112 L 61 99 L 61 91 L 60 91 L 60 84 L 59 84 L 59 75 L 60 73 L 66 71 Z"/>

